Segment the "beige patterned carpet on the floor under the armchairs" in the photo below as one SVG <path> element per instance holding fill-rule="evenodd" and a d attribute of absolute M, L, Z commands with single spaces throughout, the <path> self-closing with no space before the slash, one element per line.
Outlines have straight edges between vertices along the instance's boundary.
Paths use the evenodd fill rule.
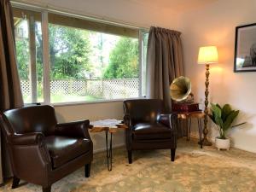
<path fill-rule="evenodd" d="M 231 148 L 218 151 L 201 149 L 195 140 L 179 140 L 175 162 L 170 150 L 137 151 L 131 165 L 125 148 L 113 149 L 113 171 L 108 172 L 105 153 L 95 154 L 90 178 L 84 168 L 53 184 L 56 192 L 254 192 L 256 191 L 256 154 Z M 32 192 L 41 188 L 21 182 L 0 191 Z"/>

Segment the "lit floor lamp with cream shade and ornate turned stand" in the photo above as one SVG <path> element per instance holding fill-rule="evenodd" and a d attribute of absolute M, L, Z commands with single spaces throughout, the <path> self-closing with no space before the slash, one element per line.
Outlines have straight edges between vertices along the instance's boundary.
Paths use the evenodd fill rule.
<path fill-rule="evenodd" d="M 198 64 L 204 64 L 206 65 L 206 90 L 205 90 L 205 119 L 204 119 L 204 129 L 203 129 L 203 138 L 200 141 L 200 144 L 205 146 L 211 146 L 212 143 L 208 141 L 207 134 L 207 123 L 208 123 L 208 96 L 209 96 L 209 69 L 210 64 L 218 63 L 218 50 L 215 46 L 207 46 L 207 47 L 201 47 L 199 49 L 198 54 Z"/>

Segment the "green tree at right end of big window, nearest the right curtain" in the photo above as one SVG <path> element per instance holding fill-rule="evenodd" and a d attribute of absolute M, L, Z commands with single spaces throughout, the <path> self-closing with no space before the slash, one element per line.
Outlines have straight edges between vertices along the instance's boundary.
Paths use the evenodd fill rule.
<path fill-rule="evenodd" d="M 138 41 L 133 38 L 120 38 L 109 55 L 109 65 L 104 79 L 138 78 Z"/>

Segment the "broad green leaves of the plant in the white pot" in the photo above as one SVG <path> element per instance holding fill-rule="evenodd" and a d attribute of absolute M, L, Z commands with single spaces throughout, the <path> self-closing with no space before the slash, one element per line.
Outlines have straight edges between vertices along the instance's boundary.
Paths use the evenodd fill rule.
<path fill-rule="evenodd" d="M 209 114 L 209 117 L 218 126 L 220 138 L 225 139 L 226 132 L 230 129 L 234 119 L 236 119 L 239 110 L 232 110 L 229 104 L 225 104 L 221 108 L 218 104 L 211 103 L 211 111 L 212 114 Z"/>

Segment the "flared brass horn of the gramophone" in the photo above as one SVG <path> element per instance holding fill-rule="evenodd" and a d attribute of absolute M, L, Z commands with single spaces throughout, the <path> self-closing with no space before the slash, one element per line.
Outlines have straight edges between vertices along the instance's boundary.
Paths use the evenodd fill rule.
<path fill-rule="evenodd" d="M 182 102 L 187 99 L 191 92 L 191 82 L 189 78 L 180 76 L 172 81 L 170 95 L 172 100 Z"/>

